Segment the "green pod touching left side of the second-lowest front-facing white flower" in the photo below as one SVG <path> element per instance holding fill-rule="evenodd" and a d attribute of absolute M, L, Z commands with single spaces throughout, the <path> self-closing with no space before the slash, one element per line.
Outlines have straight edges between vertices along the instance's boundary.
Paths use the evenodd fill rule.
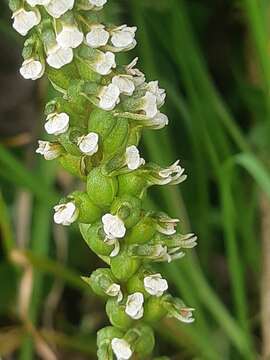
<path fill-rule="evenodd" d="M 106 313 L 113 326 L 127 330 L 132 326 L 133 320 L 125 313 L 125 305 L 121 305 L 116 299 L 109 299 L 106 303 Z"/>

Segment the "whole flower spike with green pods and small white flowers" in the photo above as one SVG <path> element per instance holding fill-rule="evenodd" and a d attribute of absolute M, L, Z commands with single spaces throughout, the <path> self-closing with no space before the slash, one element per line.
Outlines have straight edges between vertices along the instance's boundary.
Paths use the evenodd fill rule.
<path fill-rule="evenodd" d="M 136 45 L 136 27 L 106 25 L 99 11 L 107 0 L 10 0 L 13 27 L 28 35 L 21 75 L 47 74 L 59 97 L 45 108 L 37 153 L 57 159 L 85 183 L 54 207 L 54 221 L 77 222 L 89 248 L 108 265 L 83 277 L 106 300 L 112 326 L 98 332 L 100 360 L 148 357 L 153 324 L 164 317 L 191 323 L 192 308 L 168 292 L 153 268 L 196 245 L 194 234 L 179 233 L 178 219 L 143 209 L 153 185 L 186 179 L 179 161 L 167 168 L 146 163 L 138 144 L 145 128 L 168 124 L 160 112 L 165 91 L 146 82 L 136 68 L 116 62 L 118 52 Z"/>

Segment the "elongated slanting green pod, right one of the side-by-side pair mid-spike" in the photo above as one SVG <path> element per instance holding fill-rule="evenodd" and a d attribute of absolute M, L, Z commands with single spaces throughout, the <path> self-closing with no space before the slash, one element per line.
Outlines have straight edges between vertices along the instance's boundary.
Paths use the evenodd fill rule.
<path fill-rule="evenodd" d="M 129 123 L 126 119 L 117 118 L 117 121 L 103 142 L 104 157 L 112 157 L 126 148 L 129 133 Z"/>

